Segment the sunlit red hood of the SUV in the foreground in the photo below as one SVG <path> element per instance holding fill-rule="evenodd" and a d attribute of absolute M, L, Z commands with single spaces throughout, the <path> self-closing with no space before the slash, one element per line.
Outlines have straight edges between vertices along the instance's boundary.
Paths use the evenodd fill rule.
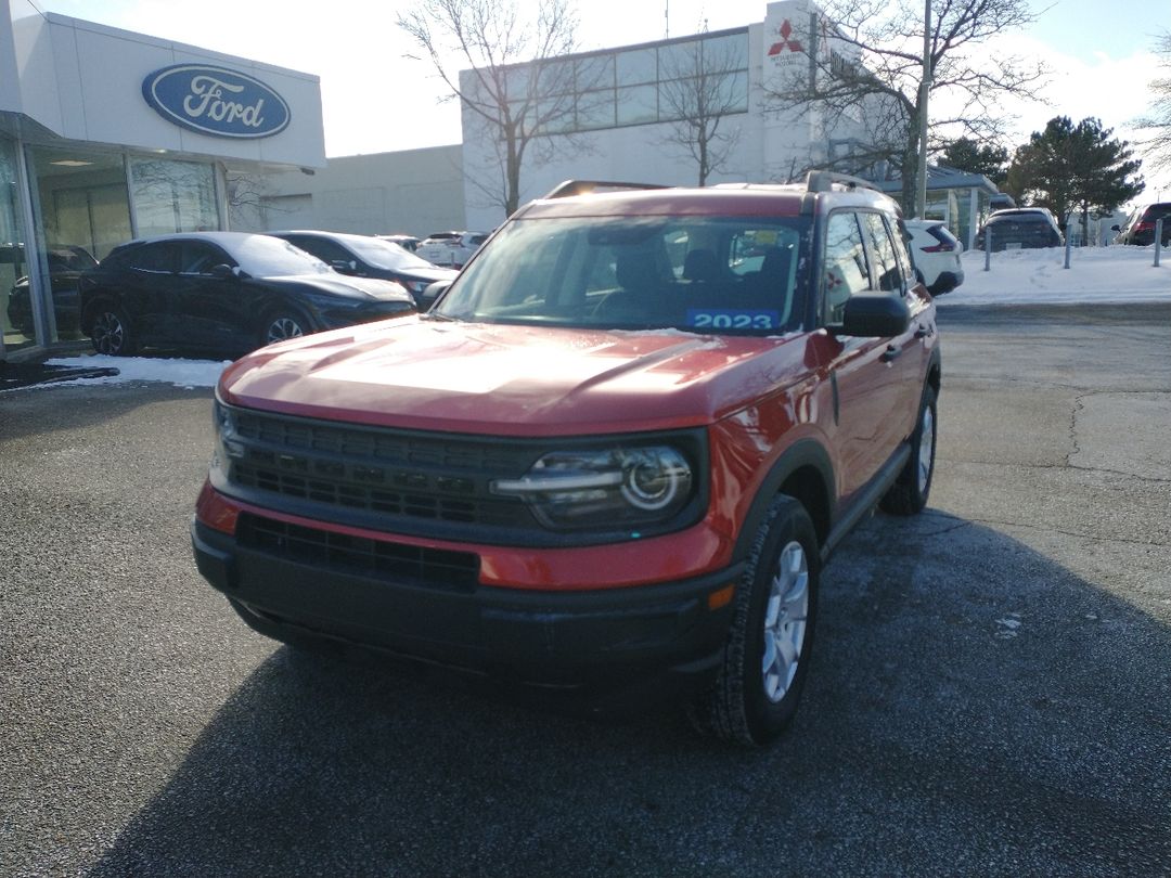
<path fill-rule="evenodd" d="M 586 331 L 406 317 L 263 348 L 220 380 L 230 404 L 314 418 L 497 435 L 710 424 L 786 377 L 790 337 Z"/>

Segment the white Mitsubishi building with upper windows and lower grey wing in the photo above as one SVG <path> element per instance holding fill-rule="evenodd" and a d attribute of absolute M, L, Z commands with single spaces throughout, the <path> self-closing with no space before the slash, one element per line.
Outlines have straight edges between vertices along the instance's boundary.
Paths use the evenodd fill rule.
<path fill-rule="evenodd" d="M 865 142 L 861 119 L 801 112 L 779 97 L 797 80 L 858 63 L 856 47 L 837 39 L 807 0 L 771 2 L 762 12 L 761 21 L 740 28 L 546 62 L 559 84 L 542 87 L 542 100 L 560 109 L 543 125 L 549 137 L 526 155 L 521 203 L 567 179 L 696 185 L 698 163 L 684 140 L 699 95 L 720 116 L 715 145 L 723 156 L 708 185 L 787 181 L 856 152 Z M 529 74 L 527 64 L 507 69 L 515 78 L 512 94 L 523 94 Z M 460 83 L 475 94 L 474 71 L 463 71 Z M 314 177 L 269 177 L 249 227 L 417 235 L 491 229 L 505 219 L 500 138 L 466 105 L 461 124 L 461 143 L 452 146 L 330 158 Z M 874 171 L 876 180 L 888 176 Z M 971 241 L 997 190 L 984 178 L 952 177 L 932 174 L 927 215 Z"/>

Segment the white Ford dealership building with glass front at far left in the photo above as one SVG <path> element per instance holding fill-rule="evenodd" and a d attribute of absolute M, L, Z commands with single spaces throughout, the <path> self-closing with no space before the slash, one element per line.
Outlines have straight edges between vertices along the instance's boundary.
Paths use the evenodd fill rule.
<path fill-rule="evenodd" d="M 118 243 L 324 166 L 316 76 L 0 0 L 2 354 L 75 339 L 76 272 Z"/>

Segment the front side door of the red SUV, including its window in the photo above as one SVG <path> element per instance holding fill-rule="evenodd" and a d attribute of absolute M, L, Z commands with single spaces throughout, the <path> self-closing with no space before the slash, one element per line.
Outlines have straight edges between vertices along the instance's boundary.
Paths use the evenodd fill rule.
<path fill-rule="evenodd" d="M 882 287 L 900 283 L 890 267 L 877 260 L 868 243 L 872 220 L 868 212 L 842 210 L 826 221 L 824 269 L 821 277 L 822 325 L 842 322 L 847 302 L 855 295 L 896 290 Z M 896 259 L 897 263 L 897 259 Z M 896 265 L 897 267 L 897 265 Z M 904 371 L 892 354 L 904 341 L 847 336 L 830 331 L 828 362 L 834 393 L 835 441 L 843 502 L 849 503 L 893 453 L 909 417 Z M 913 417 L 913 416 L 910 416 Z"/>

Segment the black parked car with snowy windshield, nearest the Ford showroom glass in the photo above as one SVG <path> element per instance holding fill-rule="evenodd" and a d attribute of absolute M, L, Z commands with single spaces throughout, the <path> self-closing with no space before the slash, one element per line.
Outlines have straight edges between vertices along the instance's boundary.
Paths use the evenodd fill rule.
<path fill-rule="evenodd" d="M 82 331 L 98 354 L 143 345 L 246 352 L 415 311 L 398 283 L 345 277 L 288 241 L 198 232 L 130 241 L 81 276 Z"/>

